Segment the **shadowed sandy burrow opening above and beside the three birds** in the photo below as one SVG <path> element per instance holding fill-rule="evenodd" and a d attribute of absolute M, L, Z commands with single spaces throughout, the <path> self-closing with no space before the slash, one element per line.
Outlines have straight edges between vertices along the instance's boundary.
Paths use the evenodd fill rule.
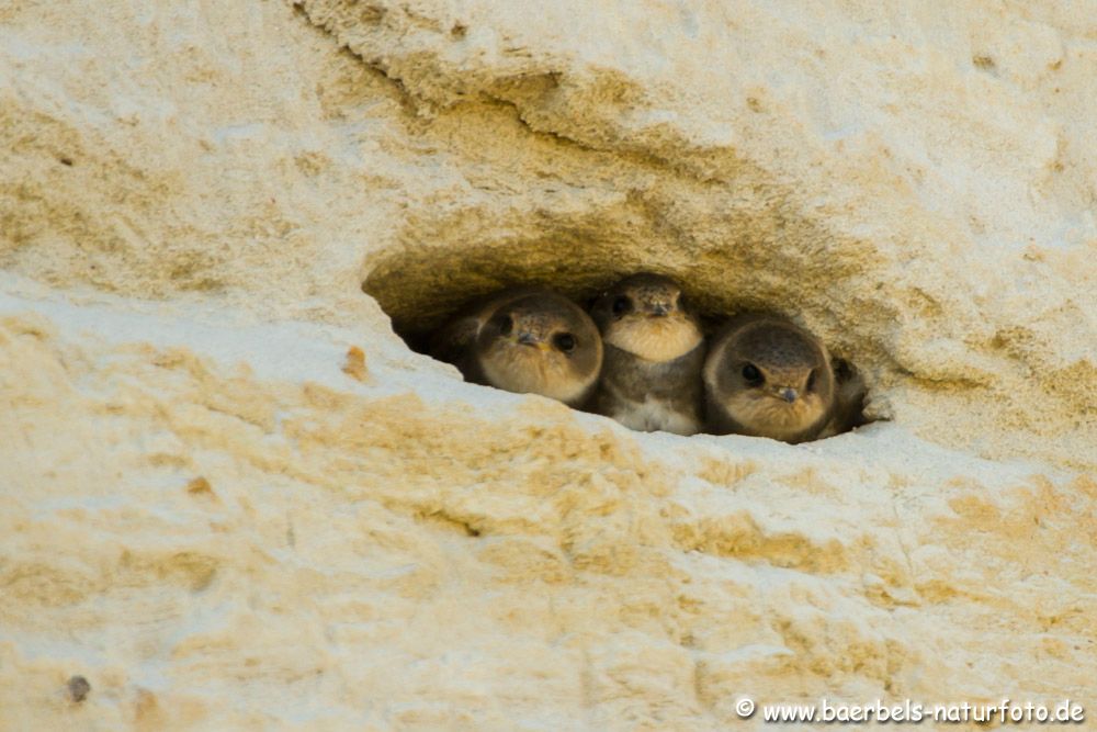
<path fill-rule="evenodd" d="M 730 315 L 743 311 L 781 313 L 810 327 L 803 309 L 796 309 L 795 304 L 810 306 L 811 297 L 790 291 L 789 279 L 776 274 L 772 268 L 759 272 L 750 267 L 744 261 L 750 258 L 749 252 L 749 248 L 732 247 L 653 263 L 649 252 L 637 251 L 635 244 L 592 240 L 589 232 L 556 232 L 551 238 L 522 241 L 410 245 L 378 258 L 362 282 L 362 290 L 378 302 L 392 318 L 396 334 L 419 353 L 428 352 L 436 329 L 504 288 L 544 286 L 586 309 L 607 288 L 638 271 L 674 278 L 701 316 L 708 334 Z M 777 271 L 780 269 L 778 266 Z M 858 373 L 853 365 L 856 353 L 835 349 L 829 342 L 827 346 L 839 378 Z M 849 427 L 868 421 L 862 403 Z"/>

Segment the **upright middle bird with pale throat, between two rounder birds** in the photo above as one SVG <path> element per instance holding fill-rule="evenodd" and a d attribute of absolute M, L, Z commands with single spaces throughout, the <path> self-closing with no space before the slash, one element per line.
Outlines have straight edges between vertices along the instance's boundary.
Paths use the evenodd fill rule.
<path fill-rule="evenodd" d="M 592 409 L 635 430 L 698 432 L 704 336 L 678 283 L 633 274 L 595 301 L 590 315 L 606 349 Z"/>

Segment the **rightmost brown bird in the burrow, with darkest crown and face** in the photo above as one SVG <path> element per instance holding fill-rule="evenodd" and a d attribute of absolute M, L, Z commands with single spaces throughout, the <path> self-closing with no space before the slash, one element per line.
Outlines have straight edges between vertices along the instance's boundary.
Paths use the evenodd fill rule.
<path fill-rule="evenodd" d="M 815 336 L 780 315 L 732 318 L 703 371 L 709 429 L 804 442 L 834 413 L 830 357 Z"/>

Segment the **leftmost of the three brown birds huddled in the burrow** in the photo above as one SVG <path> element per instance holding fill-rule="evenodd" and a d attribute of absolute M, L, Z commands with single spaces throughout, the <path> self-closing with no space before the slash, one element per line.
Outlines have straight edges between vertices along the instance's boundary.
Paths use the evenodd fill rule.
<path fill-rule="evenodd" d="M 540 394 L 569 406 L 593 392 L 602 367 L 598 328 L 578 305 L 547 290 L 488 297 L 434 334 L 430 353 L 465 380 Z"/>

